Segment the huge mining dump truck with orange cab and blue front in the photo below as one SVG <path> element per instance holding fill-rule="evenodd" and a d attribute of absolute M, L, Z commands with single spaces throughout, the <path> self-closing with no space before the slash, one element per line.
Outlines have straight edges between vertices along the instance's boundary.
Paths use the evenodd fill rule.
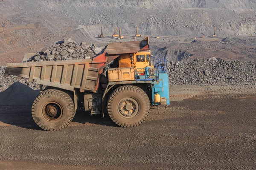
<path fill-rule="evenodd" d="M 78 108 L 90 115 L 108 114 L 121 127 L 135 127 L 151 107 L 170 103 L 166 57 L 151 56 L 148 37 L 111 43 L 91 59 L 10 63 L 9 75 L 41 85 L 32 117 L 44 130 L 64 129 Z"/>

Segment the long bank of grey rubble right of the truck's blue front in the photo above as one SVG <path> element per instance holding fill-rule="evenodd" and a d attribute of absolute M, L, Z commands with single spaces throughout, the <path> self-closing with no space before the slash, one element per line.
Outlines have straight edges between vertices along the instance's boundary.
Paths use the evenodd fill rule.
<path fill-rule="evenodd" d="M 173 85 L 256 85 L 256 62 L 194 59 L 170 62 L 169 84 Z"/>

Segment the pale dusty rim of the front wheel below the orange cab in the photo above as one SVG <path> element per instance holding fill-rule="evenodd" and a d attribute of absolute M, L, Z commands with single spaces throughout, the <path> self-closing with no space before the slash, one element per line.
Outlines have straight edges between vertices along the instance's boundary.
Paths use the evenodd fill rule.
<path fill-rule="evenodd" d="M 119 113 L 126 117 L 131 118 L 139 112 L 139 103 L 131 97 L 125 97 L 118 103 Z"/>

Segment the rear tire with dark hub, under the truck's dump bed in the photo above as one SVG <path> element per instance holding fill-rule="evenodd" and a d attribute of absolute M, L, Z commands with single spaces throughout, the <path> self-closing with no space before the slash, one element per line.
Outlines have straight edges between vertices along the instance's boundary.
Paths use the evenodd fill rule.
<path fill-rule="evenodd" d="M 44 130 L 62 130 L 74 116 L 73 100 L 65 92 L 56 89 L 43 91 L 32 105 L 32 117 Z"/>

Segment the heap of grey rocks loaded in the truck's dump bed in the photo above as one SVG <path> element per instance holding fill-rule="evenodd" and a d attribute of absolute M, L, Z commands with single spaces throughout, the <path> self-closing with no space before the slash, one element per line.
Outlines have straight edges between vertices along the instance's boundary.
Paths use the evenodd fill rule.
<path fill-rule="evenodd" d="M 101 54 L 102 49 L 86 45 L 86 42 L 77 44 L 71 38 L 64 38 L 63 41 L 56 42 L 49 48 L 43 48 L 40 52 L 32 56 L 27 62 L 56 61 L 69 59 L 89 59 Z"/>

